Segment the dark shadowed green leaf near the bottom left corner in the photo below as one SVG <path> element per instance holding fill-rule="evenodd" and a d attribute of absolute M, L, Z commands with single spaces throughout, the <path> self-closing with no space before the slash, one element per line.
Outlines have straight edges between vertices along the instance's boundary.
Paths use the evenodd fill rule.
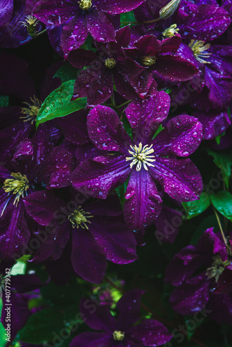
<path fill-rule="evenodd" d="M 78 305 L 47 307 L 30 316 L 24 328 L 19 331 L 17 339 L 28 344 L 42 344 L 44 341 L 52 341 L 57 335 L 60 336 L 61 331 L 66 330 L 64 334 L 68 335 L 71 325 L 82 323 L 78 312 Z"/>

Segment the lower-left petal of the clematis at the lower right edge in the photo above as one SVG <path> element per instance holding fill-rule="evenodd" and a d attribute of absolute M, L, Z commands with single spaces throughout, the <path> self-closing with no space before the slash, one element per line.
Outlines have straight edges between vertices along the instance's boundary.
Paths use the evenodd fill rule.
<path fill-rule="evenodd" d="M 175 288 L 170 303 L 179 314 L 194 314 L 201 311 L 209 298 L 211 281 L 205 276 L 196 276 Z"/>

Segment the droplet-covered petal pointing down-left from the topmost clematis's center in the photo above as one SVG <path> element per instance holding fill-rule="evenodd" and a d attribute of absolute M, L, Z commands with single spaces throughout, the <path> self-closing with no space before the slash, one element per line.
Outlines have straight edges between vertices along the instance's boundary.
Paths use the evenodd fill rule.
<path fill-rule="evenodd" d="M 88 35 L 86 16 L 80 13 L 78 17 L 73 17 L 71 22 L 63 27 L 61 35 L 61 46 L 64 51 L 64 57 L 67 58 L 69 52 L 73 51 L 73 49 L 78 49 L 87 39 Z"/>

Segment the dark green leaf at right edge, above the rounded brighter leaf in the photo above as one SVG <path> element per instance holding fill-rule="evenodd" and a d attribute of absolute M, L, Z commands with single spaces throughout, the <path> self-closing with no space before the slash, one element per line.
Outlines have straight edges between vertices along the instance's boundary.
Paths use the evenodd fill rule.
<path fill-rule="evenodd" d="M 226 188 L 229 188 L 229 178 L 231 176 L 231 166 L 232 166 L 232 153 L 231 149 L 223 152 L 215 152 L 208 149 L 208 154 L 213 155 L 213 161 L 222 170 L 222 177 Z"/>

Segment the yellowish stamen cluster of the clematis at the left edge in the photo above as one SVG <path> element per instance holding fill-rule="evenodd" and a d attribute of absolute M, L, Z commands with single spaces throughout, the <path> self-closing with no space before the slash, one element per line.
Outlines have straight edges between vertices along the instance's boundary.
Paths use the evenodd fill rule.
<path fill-rule="evenodd" d="M 16 194 L 14 205 L 19 203 L 20 196 L 24 197 L 24 192 L 29 188 L 29 181 L 26 176 L 21 175 L 19 172 L 10 174 L 13 178 L 7 178 L 3 183 L 3 189 L 6 193 Z"/>

